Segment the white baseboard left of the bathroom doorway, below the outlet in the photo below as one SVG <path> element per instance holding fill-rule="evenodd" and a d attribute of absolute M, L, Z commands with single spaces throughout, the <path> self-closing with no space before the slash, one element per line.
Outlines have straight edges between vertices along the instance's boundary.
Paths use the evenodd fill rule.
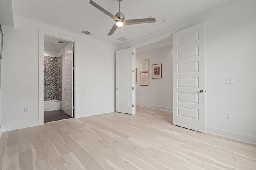
<path fill-rule="evenodd" d="M 13 125 L 4 125 L 4 126 L 1 126 L 1 129 L 2 129 L 2 132 L 6 132 L 6 131 L 12 131 L 16 129 L 23 129 L 26 127 L 38 126 L 42 124 L 43 123 L 41 121 L 37 120 L 37 121 L 29 121 L 24 123 L 17 123 Z"/>

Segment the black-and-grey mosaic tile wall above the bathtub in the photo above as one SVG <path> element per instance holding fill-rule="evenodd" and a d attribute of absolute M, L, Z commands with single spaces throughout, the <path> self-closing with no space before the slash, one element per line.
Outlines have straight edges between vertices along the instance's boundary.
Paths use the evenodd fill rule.
<path fill-rule="evenodd" d="M 60 62 L 60 92 L 58 93 L 58 60 Z M 62 56 L 44 56 L 44 101 L 62 100 Z"/>

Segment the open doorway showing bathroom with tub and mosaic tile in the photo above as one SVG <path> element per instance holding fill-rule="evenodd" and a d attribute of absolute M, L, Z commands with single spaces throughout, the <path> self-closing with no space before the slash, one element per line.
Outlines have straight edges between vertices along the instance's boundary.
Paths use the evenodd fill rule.
<path fill-rule="evenodd" d="M 44 35 L 44 123 L 73 116 L 73 42 Z"/>

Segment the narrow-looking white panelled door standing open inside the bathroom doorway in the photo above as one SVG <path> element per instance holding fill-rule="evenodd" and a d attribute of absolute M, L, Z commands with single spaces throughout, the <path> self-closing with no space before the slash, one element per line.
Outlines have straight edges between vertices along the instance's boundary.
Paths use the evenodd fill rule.
<path fill-rule="evenodd" d="M 65 48 L 65 113 L 73 117 L 73 43 Z"/>

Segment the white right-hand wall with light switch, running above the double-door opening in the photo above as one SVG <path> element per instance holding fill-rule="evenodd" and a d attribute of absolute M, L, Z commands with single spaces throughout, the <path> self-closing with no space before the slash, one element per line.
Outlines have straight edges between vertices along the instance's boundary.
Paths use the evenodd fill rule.
<path fill-rule="evenodd" d="M 255 7 L 256 1 L 230 1 L 119 49 L 206 21 L 206 131 L 256 143 Z M 224 84 L 225 77 L 234 84 Z"/>

